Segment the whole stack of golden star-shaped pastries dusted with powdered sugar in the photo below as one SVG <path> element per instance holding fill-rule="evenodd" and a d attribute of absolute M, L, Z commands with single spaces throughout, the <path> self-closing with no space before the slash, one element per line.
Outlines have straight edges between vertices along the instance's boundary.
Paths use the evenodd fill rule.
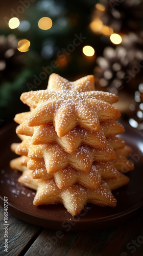
<path fill-rule="evenodd" d="M 35 206 L 61 203 L 75 216 L 87 202 L 116 206 L 111 190 L 129 182 L 130 148 L 112 104 L 118 97 L 94 90 L 92 75 L 74 82 L 52 74 L 46 90 L 21 95 L 30 111 L 15 116 L 20 157 L 10 166 L 18 181 L 36 190 Z M 48 210 L 48 207 L 47 207 Z"/>

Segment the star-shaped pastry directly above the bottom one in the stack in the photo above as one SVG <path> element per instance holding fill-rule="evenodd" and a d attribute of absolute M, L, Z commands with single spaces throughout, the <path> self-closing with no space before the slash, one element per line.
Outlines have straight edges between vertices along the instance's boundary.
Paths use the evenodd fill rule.
<path fill-rule="evenodd" d="M 33 179 L 51 179 L 51 174 L 47 174 L 46 168 L 43 168 L 43 166 L 44 163 L 42 164 L 42 169 L 38 169 L 37 166 L 37 169 L 32 173 Z M 100 186 L 102 179 L 115 179 L 119 175 L 120 173 L 117 172 L 111 163 L 94 162 L 89 173 L 83 173 L 67 166 L 53 174 L 53 178 L 60 189 L 68 188 L 76 183 L 90 189 L 97 189 Z"/>

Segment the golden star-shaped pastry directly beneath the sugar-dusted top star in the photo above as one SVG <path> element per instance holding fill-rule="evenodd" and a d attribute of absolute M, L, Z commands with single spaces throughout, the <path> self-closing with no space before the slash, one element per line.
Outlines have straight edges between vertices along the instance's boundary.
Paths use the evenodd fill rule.
<path fill-rule="evenodd" d="M 29 112 L 30 113 L 30 112 Z M 30 114 L 29 114 L 30 115 Z M 19 123 L 20 115 L 16 115 L 16 120 Z M 30 127 L 27 124 L 27 119 L 16 128 L 16 133 L 32 137 L 32 144 L 49 144 L 57 142 L 64 148 L 67 153 L 73 153 L 81 144 L 87 144 L 92 147 L 102 148 L 106 146 L 106 137 L 121 134 L 125 131 L 122 124 L 114 120 L 103 121 L 100 123 L 101 130 L 93 132 L 86 130 L 80 126 L 76 126 L 65 136 L 59 138 L 53 124 L 45 123 L 43 125 Z"/>

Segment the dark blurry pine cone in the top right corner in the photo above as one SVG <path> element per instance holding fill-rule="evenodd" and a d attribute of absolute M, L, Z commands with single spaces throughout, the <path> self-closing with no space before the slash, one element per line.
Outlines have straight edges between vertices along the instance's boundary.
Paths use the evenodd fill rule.
<path fill-rule="evenodd" d="M 142 30 L 142 0 L 101 0 L 101 4 L 105 6 L 101 20 L 104 25 L 112 27 L 114 32 Z"/>

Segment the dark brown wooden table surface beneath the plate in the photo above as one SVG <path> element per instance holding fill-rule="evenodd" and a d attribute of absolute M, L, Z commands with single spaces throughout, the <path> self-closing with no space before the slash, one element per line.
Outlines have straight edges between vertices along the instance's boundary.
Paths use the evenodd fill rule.
<path fill-rule="evenodd" d="M 59 234 L 8 214 L 8 252 L 4 251 L 4 209 L 0 209 L 0 255 L 143 255 L 143 208 L 116 227 L 91 232 L 61 231 Z"/>

